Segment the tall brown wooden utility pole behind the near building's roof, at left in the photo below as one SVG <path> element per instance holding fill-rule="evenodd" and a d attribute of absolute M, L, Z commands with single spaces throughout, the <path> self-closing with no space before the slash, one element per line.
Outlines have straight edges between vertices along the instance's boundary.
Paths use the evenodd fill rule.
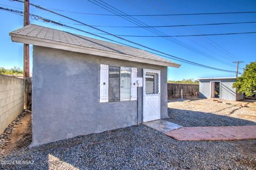
<path fill-rule="evenodd" d="M 29 25 L 29 0 L 24 1 L 24 27 Z M 29 77 L 29 44 L 23 47 L 23 77 Z"/>

